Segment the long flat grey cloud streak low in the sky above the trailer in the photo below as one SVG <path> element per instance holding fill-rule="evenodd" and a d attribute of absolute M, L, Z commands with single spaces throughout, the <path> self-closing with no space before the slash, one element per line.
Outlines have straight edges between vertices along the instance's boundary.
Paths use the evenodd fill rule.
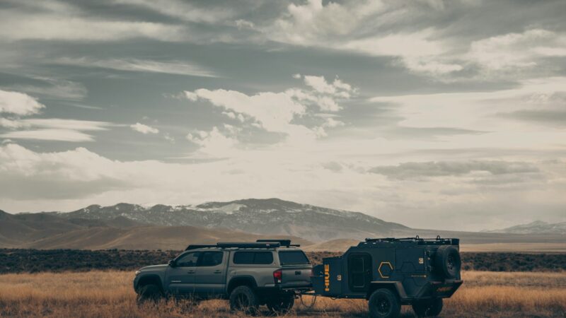
<path fill-rule="evenodd" d="M 491 175 L 507 175 L 539 172 L 532 163 L 505 161 L 437 161 L 426 163 L 400 163 L 379 166 L 369 172 L 385 175 L 392 179 L 414 179 L 420 177 L 445 177 L 466 175 L 470 172 L 489 172 Z"/>

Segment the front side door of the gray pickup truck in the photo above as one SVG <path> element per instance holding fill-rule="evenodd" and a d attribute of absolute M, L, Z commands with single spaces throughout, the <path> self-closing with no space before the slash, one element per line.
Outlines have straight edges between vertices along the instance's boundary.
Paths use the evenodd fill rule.
<path fill-rule="evenodd" d="M 195 292 L 195 272 L 202 252 L 188 252 L 175 259 L 175 267 L 167 269 L 166 283 L 170 293 L 187 295 Z"/>

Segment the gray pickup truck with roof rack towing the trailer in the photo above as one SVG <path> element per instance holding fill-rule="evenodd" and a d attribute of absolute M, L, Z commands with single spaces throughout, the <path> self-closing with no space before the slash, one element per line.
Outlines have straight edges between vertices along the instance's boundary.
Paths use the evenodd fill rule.
<path fill-rule="evenodd" d="M 311 290 L 312 266 L 290 240 L 189 245 L 169 264 L 136 272 L 139 301 L 173 296 L 229 299 L 232 310 L 255 312 L 267 305 L 287 312 L 295 295 Z"/>

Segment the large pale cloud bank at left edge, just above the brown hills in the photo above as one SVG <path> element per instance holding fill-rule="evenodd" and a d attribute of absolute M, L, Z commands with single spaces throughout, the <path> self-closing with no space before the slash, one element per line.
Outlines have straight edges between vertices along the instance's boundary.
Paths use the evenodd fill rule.
<path fill-rule="evenodd" d="M 85 148 L 35 153 L 14 143 L 0 146 L 0 198 L 76 199 L 135 187 L 129 173 Z"/>

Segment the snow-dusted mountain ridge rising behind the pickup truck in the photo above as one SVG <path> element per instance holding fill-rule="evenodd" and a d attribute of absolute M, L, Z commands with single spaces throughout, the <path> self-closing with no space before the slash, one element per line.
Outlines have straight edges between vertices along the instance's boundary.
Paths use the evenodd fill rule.
<path fill-rule="evenodd" d="M 364 213 L 280 199 L 244 199 L 197 206 L 93 205 L 70 213 L 57 213 L 57 216 L 105 222 L 121 217 L 145 225 L 228 228 L 264 235 L 303 237 L 313 242 L 338 237 L 359 239 L 390 236 L 399 230 L 409 229 L 405 225 L 386 222 Z"/>

